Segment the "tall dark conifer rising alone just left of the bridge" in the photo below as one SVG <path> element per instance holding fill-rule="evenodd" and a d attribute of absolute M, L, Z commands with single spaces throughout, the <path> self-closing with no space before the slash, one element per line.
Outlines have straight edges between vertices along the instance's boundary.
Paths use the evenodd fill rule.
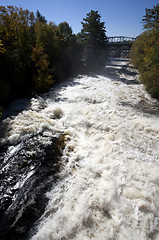
<path fill-rule="evenodd" d="M 101 66 L 106 59 L 105 23 L 100 20 L 101 16 L 98 11 L 91 10 L 82 22 L 81 36 L 84 46 L 84 60 L 88 69 Z"/>

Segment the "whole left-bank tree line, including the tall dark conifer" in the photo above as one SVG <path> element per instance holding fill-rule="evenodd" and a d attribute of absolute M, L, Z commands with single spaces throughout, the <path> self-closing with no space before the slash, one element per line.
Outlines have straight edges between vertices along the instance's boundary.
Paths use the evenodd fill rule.
<path fill-rule="evenodd" d="M 100 19 L 98 11 L 91 11 L 75 35 L 67 22 L 48 23 L 39 11 L 0 6 L 0 106 L 101 66 L 107 37 Z"/>

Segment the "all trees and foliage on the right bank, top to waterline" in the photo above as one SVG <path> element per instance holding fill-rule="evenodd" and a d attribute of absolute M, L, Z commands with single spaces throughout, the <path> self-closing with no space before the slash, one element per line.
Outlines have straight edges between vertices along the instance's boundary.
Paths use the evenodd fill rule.
<path fill-rule="evenodd" d="M 142 22 L 145 31 L 133 44 L 130 57 L 146 90 L 159 99 L 159 4 L 146 8 Z"/>

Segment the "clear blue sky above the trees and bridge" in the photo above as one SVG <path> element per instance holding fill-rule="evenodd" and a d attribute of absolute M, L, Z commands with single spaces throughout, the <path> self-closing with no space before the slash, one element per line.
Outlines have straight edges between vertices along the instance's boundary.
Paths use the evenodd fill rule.
<path fill-rule="evenodd" d="M 159 0 L 0 0 L 0 5 L 14 5 L 45 16 L 55 24 L 68 22 L 77 34 L 81 22 L 91 10 L 98 11 L 105 22 L 106 35 L 137 37 L 143 31 L 145 8 L 152 8 Z"/>

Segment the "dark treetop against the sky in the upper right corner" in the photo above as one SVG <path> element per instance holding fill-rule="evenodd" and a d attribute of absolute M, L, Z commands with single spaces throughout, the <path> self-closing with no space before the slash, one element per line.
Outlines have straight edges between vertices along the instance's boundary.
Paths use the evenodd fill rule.
<path fill-rule="evenodd" d="M 159 29 L 159 4 L 152 9 L 146 8 L 146 14 L 142 19 L 145 29 L 157 28 Z"/>

